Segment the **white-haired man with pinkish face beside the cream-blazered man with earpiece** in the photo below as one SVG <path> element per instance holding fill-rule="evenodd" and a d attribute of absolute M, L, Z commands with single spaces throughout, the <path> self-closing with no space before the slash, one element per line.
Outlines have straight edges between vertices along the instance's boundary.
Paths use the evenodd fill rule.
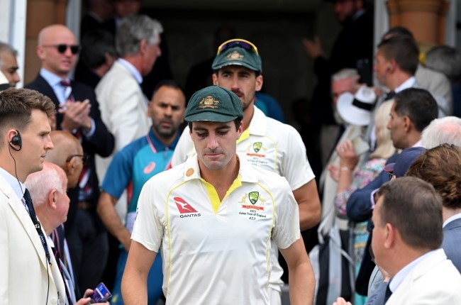
<path fill-rule="evenodd" d="M 56 228 L 62 226 L 62 223 L 66 221 L 67 210 L 69 209 L 70 199 L 66 192 L 67 177 L 64 170 L 51 162 L 43 162 L 43 170 L 29 174 L 24 184 L 30 190 L 35 213 L 40 219 L 43 231 L 53 240 L 53 254 L 59 265 L 62 278 L 65 279 L 66 304 L 89 304 L 93 289 L 87 289 L 84 296 L 77 301 L 74 278 L 70 276 L 73 275 L 72 265 L 65 265 L 64 263 L 66 261 L 64 254 L 68 255 L 67 243 L 62 243 L 61 247 L 56 243 L 58 240 L 53 236 Z"/>

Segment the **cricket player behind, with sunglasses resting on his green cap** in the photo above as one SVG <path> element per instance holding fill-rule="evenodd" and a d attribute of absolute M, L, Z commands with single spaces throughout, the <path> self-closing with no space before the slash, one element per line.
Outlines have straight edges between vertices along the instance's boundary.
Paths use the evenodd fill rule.
<path fill-rule="evenodd" d="M 316 226 L 320 220 L 320 199 L 301 136 L 293 127 L 268 118 L 254 106 L 255 92 L 262 87 L 262 62 L 256 46 L 248 40 L 228 40 L 218 48 L 212 68 L 213 84 L 233 91 L 242 102 L 244 131 L 237 141 L 237 152 L 252 165 L 285 177 L 299 205 L 301 231 Z M 193 154 L 193 143 L 186 128 L 174 150 L 172 165 L 184 162 Z M 280 304 L 283 270 L 277 262 L 275 245 L 271 254 L 274 262 L 270 278 L 271 304 Z"/>

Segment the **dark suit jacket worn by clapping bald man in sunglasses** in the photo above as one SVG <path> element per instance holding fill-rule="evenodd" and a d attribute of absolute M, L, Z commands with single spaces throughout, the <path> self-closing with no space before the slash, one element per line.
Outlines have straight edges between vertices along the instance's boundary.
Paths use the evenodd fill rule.
<path fill-rule="evenodd" d="M 52 87 L 46 80 L 38 74 L 37 78 L 26 84 L 25 88 L 34 89 L 40 93 L 48 96 L 53 103 L 55 103 L 56 109 L 59 109 L 59 101 L 53 91 Z M 99 179 L 96 176 L 96 167 L 94 165 L 94 155 L 98 154 L 101 157 L 107 157 L 111 155 L 115 140 L 113 135 L 108 131 L 106 126 L 101 120 L 101 112 L 99 111 L 99 103 L 96 101 L 96 95 L 94 94 L 93 89 L 87 85 L 81 84 L 79 82 L 72 82 L 72 94 L 76 101 L 83 101 L 84 99 L 89 99 L 91 103 L 91 111 L 89 116 L 93 118 L 95 124 L 94 135 L 91 138 L 87 139 L 82 137 L 82 147 L 84 153 L 89 155 L 89 167 L 91 168 L 91 187 L 93 189 L 93 198 L 94 205 L 97 204 L 99 198 Z M 60 129 L 62 123 L 63 114 L 56 113 L 56 126 Z M 71 205 L 69 213 L 67 214 L 67 221 L 65 223 L 66 227 L 72 225 L 75 211 L 77 211 L 78 203 L 78 186 L 74 189 L 70 189 L 68 194 L 71 199 Z"/>

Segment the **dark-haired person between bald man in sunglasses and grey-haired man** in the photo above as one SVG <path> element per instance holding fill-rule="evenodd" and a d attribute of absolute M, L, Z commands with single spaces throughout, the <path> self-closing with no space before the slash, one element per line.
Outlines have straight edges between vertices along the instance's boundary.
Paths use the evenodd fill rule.
<path fill-rule="evenodd" d="M 117 59 L 115 39 L 105 30 L 89 30 L 82 38 L 82 50 L 75 68 L 75 79 L 92 89 Z"/>

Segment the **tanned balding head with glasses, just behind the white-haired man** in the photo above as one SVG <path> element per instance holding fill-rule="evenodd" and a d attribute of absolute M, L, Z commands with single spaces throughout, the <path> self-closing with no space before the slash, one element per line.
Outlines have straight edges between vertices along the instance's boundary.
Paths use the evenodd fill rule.
<path fill-rule="evenodd" d="M 82 145 L 66 131 L 52 131 L 50 137 L 55 148 L 48 151 L 45 161 L 55 163 L 65 171 L 67 188 L 72 189 L 77 186 L 83 168 Z"/>

